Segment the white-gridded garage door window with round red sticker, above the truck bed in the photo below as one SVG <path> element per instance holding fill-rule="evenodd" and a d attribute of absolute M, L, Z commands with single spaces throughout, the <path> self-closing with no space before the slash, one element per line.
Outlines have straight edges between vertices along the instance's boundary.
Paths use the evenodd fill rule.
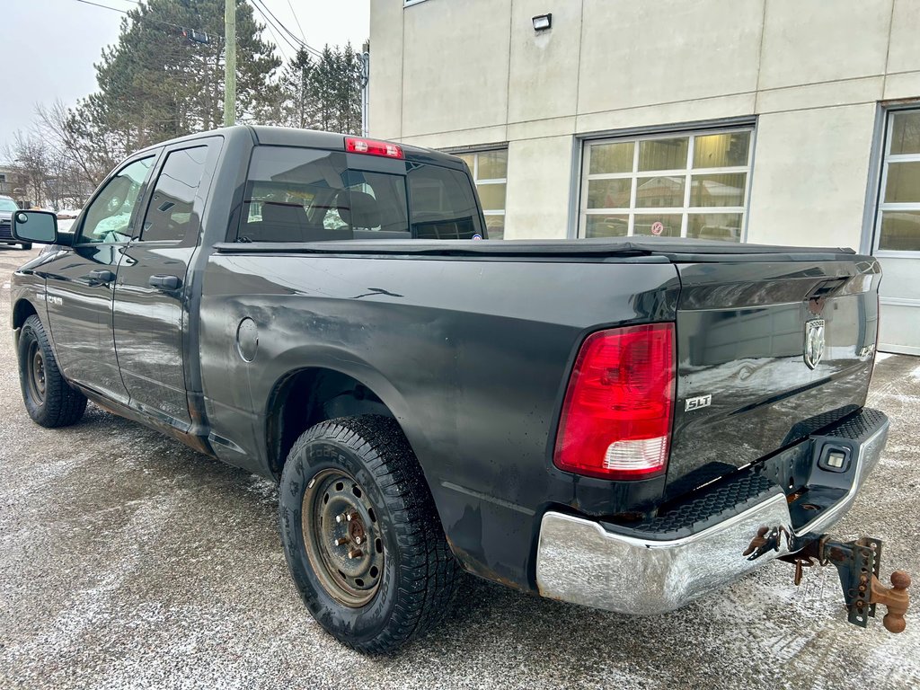
<path fill-rule="evenodd" d="M 752 140 L 739 129 L 585 144 L 580 236 L 740 242 Z"/>

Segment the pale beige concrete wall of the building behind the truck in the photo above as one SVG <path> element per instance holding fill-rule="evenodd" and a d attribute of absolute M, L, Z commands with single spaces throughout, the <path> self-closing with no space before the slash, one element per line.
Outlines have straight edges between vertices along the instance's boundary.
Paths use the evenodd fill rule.
<path fill-rule="evenodd" d="M 749 241 L 859 247 L 918 34 L 914 0 L 374 0 L 371 132 L 509 142 L 505 236 L 562 237 L 582 137 L 755 117 Z"/>

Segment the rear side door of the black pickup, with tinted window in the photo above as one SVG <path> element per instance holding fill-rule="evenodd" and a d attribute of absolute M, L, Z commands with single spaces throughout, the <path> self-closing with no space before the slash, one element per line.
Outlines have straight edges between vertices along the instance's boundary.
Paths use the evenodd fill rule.
<path fill-rule="evenodd" d="M 130 404 L 181 431 L 191 425 L 185 346 L 189 265 L 199 246 L 204 198 L 219 139 L 167 148 L 155 170 L 140 236 L 124 248 L 115 285 L 115 349 Z"/>

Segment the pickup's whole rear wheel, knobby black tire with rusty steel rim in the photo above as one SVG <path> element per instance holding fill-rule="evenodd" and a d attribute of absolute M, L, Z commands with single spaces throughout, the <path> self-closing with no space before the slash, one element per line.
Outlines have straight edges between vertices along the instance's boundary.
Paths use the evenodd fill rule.
<path fill-rule="evenodd" d="M 346 477 L 353 478 L 353 485 Z M 332 483 L 323 493 L 327 481 Z M 374 576 L 373 592 L 351 591 L 357 587 L 354 582 L 364 583 L 346 578 L 343 569 L 351 568 L 350 562 L 340 559 L 333 564 L 341 578 L 330 575 L 328 568 L 330 559 L 339 558 L 335 553 L 339 541 L 351 538 L 351 525 L 362 518 L 337 525 L 321 519 L 316 511 L 338 510 L 332 508 L 335 502 L 351 500 L 351 495 L 360 497 L 351 516 L 362 512 L 367 516 L 364 521 L 370 521 L 361 525 L 366 530 L 361 533 L 363 542 L 358 539 L 369 553 L 358 558 L 382 559 L 382 563 L 369 561 L 382 565 Z M 447 546 L 418 460 L 396 420 L 376 415 L 343 417 L 305 431 L 288 454 L 280 496 L 284 556 L 293 581 L 316 621 L 339 641 L 364 653 L 391 652 L 419 637 L 450 610 L 459 565 Z M 367 506 L 371 508 L 365 511 Z M 345 536 L 333 540 L 332 533 L 341 526 Z M 343 548 L 360 550 L 353 543 Z M 374 566 L 369 572 L 374 573 Z M 343 603 L 355 592 L 354 601 Z"/>

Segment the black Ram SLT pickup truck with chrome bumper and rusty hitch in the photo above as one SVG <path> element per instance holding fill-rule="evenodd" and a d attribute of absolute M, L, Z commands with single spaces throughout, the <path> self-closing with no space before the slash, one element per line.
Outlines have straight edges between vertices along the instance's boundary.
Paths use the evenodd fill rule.
<path fill-rule="evenodd" d="M 293 580 L 358 650 L 431 627 L 461 570 L 655 614 L 819 561 L 851 621 L 903 628 L 880 541 L 824 534 L 888 432 L 871 257 L 477 241 L 458 158 L 259 127 L 133 155 L 73 233 L 12 232 L 49 245 L 12 288 L 32 419 L 88 398 L 277 478 Z"/>

